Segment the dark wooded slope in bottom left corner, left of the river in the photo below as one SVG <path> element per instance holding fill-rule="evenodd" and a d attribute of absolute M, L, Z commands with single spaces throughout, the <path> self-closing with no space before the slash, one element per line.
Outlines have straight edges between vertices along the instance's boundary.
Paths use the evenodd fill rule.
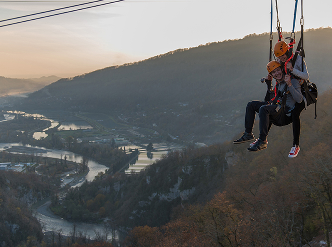
<path fill-rule="evenodd" d="M 40 176 L 0 171 L 1 246 L 15 247 L 28 237 L 42 240 L 42 228 L 28 207 L 50 194 L 50 185 Z"/>

